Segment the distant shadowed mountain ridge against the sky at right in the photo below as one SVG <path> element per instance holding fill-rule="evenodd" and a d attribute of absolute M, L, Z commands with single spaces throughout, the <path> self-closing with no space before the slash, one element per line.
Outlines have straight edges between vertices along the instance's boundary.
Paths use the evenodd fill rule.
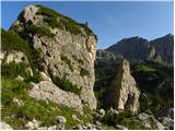
<path fill-rule="evenodd" d="M 174 36 L 168 34 L 151 41 L 138 36 L 124 38 L 105 50 L 132 60 L 152 59 L 172 66 L 173 48 Z"/>

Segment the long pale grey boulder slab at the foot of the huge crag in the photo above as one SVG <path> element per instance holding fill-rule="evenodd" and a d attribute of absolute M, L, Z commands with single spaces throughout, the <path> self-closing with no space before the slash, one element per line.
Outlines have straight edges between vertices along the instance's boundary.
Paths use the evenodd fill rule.
<path fill-rule="evenodd" d="M 77 94 L 62 91 L 51 82 L 31 83 L 31 87 L 32 90 L 28 91 L 28 95 L 33 98 L 50 100 L 73 108 L 77 111 L 82 111 L 81 99 Z"/>

